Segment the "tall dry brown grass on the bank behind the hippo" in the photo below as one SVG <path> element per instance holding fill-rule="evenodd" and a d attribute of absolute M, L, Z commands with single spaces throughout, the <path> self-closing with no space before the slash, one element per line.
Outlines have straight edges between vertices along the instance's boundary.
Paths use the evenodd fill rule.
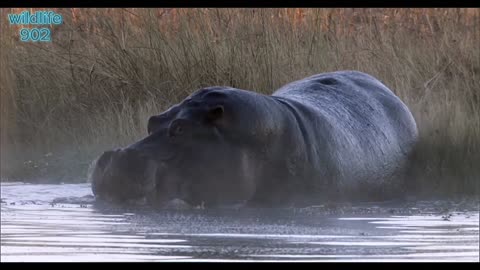
<path fill-rule="evenodd" d="M 479 9 L 57 12 L 49 44 L 19 42 L 2 22 L 4 181 L 85 181 L 103 150 L 145 136 L 148 116 L 203 86 L 269 94 L 355 69 L 414 113 L 412 189 L 480 193 Z"/>

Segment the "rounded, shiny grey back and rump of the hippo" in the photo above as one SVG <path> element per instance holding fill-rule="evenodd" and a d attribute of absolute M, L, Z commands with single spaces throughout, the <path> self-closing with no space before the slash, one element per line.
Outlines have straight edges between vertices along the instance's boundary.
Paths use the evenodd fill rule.
<path fill-rule="evenodd" d="M 306 144 L 321 146 L 308 150 L 309 159 L 328 161 L 327 174 L 343 190 L 384 186 L 405 166 L 417 138 L 407 106 L 362 72 L 317 74 L 289 83 L 272 96 L 295 108 Z M 325 142 L 314 142 L 318 138 Z M 321 170 L 325 164 L 313 166 Z"/>

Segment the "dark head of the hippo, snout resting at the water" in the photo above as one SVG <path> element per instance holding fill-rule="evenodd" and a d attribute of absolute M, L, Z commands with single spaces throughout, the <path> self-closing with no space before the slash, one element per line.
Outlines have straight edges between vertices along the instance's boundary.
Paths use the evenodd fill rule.
<path fill-rule="evenodd" d="M 180 199 L 207 207 L 249 200 L 258 162 L 253 158 L 255 147 L 247 145 L 258 130 L 237 124 L 256 119 L 242 116 L 242 110 L 233 107 L 241 102 L 228 91 L 201 89 L 150 117 L 147 137 L 99 158 L 95 194 L 118 200 L 155 194 L 157 203 Z"/>

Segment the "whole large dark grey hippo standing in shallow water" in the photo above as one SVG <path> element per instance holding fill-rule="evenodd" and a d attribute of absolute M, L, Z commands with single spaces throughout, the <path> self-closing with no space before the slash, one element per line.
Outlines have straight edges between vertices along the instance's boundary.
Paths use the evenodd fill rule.
<path fill-rule="evenodd" d="M 97 198 L 203 207 L 389 200 L 403 194 L 418 137 L 388 87 L 348 70 L 271 95 L 202 88 L 151 116 L 147 132 L 98 158 Z"/>

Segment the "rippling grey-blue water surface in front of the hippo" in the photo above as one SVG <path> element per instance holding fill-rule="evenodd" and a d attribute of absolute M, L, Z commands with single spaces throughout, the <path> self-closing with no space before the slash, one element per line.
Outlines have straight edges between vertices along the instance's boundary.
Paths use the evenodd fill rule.
<path fill-rule="evenodd" d="M 478 199 L 154 211 L 98 205 L 88 184 L 22 183 L 1 199 L 2 262 L 479 261 Z"/>

